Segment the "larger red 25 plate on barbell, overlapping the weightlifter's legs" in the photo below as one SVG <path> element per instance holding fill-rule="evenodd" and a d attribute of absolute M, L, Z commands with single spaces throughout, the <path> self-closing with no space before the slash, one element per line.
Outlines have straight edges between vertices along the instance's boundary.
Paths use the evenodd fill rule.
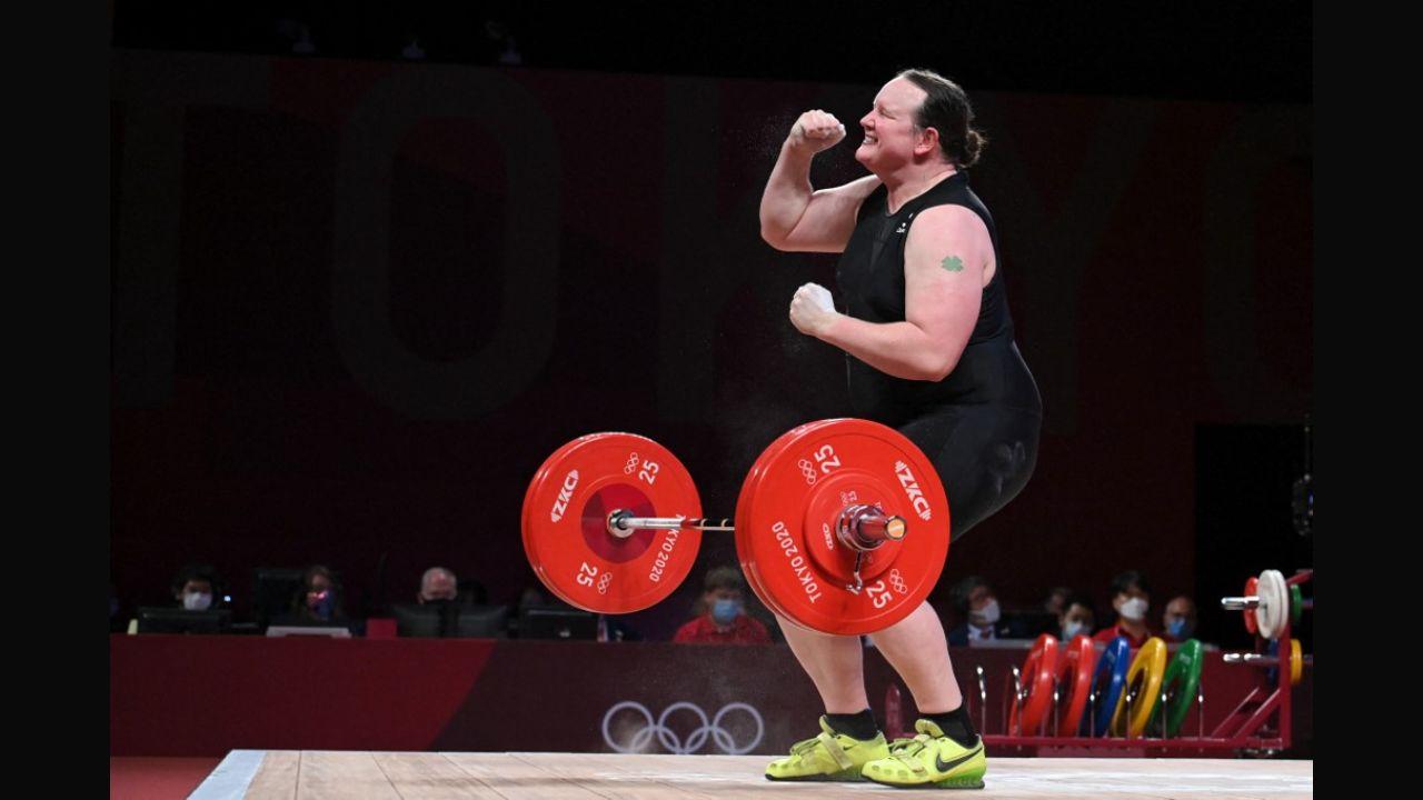
<path fill-rule="evenodd" d="M 908 521 L 904 540 L 867 554 L 858 592 L 848 579 L 854 552 L 831 551 L 824 540 L 850 493 Z M 736 547 L 747 584 L 781 616 L 825 633 L 869 633 L 908 616 L 933 589 L 949 551 L 949 502 L 932 463 L 896 430 L 821 420 L 757 458 L 737 501 Z"/>

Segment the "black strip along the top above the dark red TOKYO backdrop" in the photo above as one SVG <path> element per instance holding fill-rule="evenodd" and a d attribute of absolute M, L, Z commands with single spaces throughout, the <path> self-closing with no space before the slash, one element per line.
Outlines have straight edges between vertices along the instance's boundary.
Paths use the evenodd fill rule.
<path fill-rule="evenodd" d="M 380 3 L 115 0 L 129 48 L 865 83 L 928 64 L 973 91 L 1309 102 L 1309 3 Z M 875 81 L 869 81 L 875 83 Z M 879 81 L 882 83 L 882 81 Z"/>

